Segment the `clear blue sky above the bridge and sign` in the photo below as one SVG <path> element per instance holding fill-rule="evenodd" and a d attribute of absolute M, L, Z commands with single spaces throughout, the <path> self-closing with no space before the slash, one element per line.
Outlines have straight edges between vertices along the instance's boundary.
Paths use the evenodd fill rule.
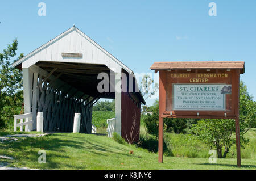
<path fill-rule="evenodd" d="M 210 2 L 217 16 L 209 16 Z M 0 51 L 17 38 L 18 53 L 28 54 L 76 24 L 137 73 L 152 73 L 154 61 L 245 61 L 241 79 L 256 100 L 255 7 L 255 0 L 1 1 Z"/>

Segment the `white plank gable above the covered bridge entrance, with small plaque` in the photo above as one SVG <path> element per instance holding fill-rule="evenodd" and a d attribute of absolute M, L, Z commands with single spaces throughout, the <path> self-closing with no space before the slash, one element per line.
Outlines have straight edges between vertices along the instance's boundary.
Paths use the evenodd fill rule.
<path fill-rule="evenodd" d="M 63 57 L 61 53 L 81 53 L 82 57 Z M 120 71 L 121 68 L 125 69 L 128 73 L 132 72 L 122 62 L 114 58 L 76 27 L 72 27 L 55 37 L 55 39 L 15 62 L 13 66 L 22 62 L 22 68 L 29 68 L 38 61 L 105 64 L 114 72 L 115 70 Z"/>

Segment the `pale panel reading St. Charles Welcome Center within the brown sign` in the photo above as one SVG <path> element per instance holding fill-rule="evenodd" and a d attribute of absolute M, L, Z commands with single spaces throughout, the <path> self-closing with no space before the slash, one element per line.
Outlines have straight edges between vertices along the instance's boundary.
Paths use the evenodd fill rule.
<path fill-rule="evenodd" d="M 226 109 L 226 94 L 231 94 L 231 85 L 221 84 L 173 84 L 174 110 Z"/>

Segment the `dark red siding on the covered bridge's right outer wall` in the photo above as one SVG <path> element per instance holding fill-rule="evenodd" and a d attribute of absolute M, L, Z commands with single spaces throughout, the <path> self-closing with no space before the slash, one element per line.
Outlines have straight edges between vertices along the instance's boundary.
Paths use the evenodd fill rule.
<path fill-rule="evenodd" d="M 135 120 L 135 127 L 131 134 L 131 139 L 134 137 L 134 142 L 139 141 L 139 127 L 141 120 L 141 104 L 133 101 L 129 93 L 122 92 L 121 95 L 121 136 L 127 141 L 130 140 L 130 133 Z M 138 106 L 137 106 L 138 105 Z"/>

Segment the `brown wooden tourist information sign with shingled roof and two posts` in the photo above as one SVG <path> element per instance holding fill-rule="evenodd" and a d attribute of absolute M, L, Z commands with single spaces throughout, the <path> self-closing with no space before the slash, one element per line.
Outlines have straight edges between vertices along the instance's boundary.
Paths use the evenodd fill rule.
<path fill-rule="evenodd" d="M 163 118 L 235 119 L 241 167 L 239 86 L 244 62 L 155 62 L 150 69 L 159 71 L 159 163 L 163 162 Z"/>

